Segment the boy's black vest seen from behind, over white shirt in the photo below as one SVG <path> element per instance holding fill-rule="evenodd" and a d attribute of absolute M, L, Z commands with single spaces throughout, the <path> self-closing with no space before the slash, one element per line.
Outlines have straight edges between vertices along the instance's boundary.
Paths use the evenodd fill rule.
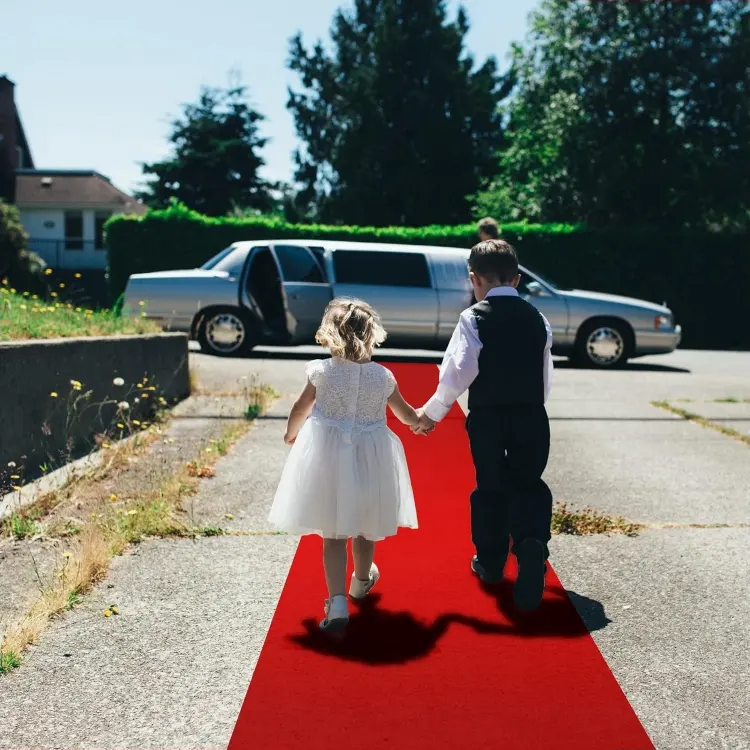
<path fill-rule="evenodd" d="M 494 296 L 471 312 L 482 350 L 479 375 L 469 388 L 469 411 L 544 404 L 547 329 L 539 311 L 521 297 Z"/>

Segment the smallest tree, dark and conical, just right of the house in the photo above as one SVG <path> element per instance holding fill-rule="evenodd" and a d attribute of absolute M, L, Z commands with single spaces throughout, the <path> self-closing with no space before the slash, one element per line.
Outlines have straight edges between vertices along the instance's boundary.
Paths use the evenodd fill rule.
<path fill-rule="evenodd" d="M 263 119 L 244 87 L 204 87 L 198 102 L 185 105 L 172 123 L 169 158 L 142 165 L 153 177 L 139 197 L 155 208 L 176 198 L 209 216 L 235 208 L 269 210 L 273 186 L 258 174 L 268 140 L 258 134 Z"/>

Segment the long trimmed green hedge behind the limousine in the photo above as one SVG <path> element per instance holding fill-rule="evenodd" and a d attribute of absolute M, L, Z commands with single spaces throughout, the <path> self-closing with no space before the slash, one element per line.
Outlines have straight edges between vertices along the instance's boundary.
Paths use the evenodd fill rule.
<path fill-rule="evenodd" d="M 593 231 L 571 225 L 503 226 L 521 262 L 560 286 L 666 302 L 683 346 L 750 349 L 750 239 L 747 235 Z M 328 239 L 471 247 L 474 225 L 373 228 L 288 224 L 275 219 L 208 218 L 182 206 L 107 224 L 110 289 L 132 273 L 195 268 L 232 242 Z"/>

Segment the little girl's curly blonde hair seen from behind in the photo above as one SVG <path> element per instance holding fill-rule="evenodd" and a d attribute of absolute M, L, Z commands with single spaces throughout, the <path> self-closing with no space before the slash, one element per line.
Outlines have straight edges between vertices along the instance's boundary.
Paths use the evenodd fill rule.
<path fill-rule="evenodd" d="M 380 317 L 366 302 L 339 297 L 329 303 L 315 340 L 334 357 L 361 362 L 385 341 Z"/>

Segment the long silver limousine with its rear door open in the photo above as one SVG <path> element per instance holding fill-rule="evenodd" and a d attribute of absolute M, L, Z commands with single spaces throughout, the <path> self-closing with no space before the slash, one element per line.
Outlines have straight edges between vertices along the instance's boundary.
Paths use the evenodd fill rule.
<path fill-rule="evenodd" d="M 471 304 L 469 251 L 416 245 L 268 240 L 236 242 L 201 268 L 134 274 L 124 309 L 189 332 L 205 352 L 314 341 L 333 297 L 358 297 L 381 315 L 388 344 L 440 349 Z M 593 367 L 673 351 L 681 330 L 664 305 L 561 289 L 522 268 L 519 292 L 552 326 L 554 352 Z"/>

